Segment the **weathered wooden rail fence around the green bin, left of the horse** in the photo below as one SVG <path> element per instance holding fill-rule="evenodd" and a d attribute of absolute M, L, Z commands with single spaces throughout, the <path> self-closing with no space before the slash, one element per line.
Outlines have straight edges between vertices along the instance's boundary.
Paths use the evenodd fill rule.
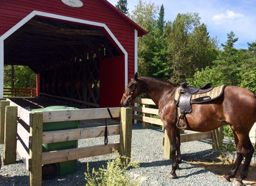
<path fill-rule="evenodd" d="M 109 108 L 120 125 L 108 126 L 108 135 L 120 135 L 119 143 L 42 152 L 42 144 L 104 136 L 105 126 L 43 132 L 49 122 L 110 118 L 107 108 L 71 111 L 29 112 L 11 100 L 1 101 L 0 143 L 4 145 L 4 165 L 16 162 L 16 149 L 29 171 L 30 185 L 42 185 L 42 165 L 112 153 L 131 154 L 131 108 Z M 25 127 L 24 127 L 25 125 Z M 29 128 L 29 132 L 26 128 Z M 29 149 L 29 153 L 27 152 Z"/>

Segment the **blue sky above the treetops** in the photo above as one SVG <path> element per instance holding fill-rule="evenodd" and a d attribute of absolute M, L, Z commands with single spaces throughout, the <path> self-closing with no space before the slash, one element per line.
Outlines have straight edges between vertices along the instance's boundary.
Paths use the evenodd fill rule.
<path fill-rule="evenodd" d="M 108 0 L 116 5 L 117 0 Z M 143 2 L 150 2 L 144 0 Z M 129 12 L 138 0 L 127 0 Z M 201 23 L 206 24 L 211 37 L 218 36 L 220 43 L 227 40 L 227 33 L 234 31 L 239 38 L 235 48 L 247 48 L 247 42 L 256 40 L 255 0 L 155 0 L 155 5 L 165 7 L 165 19 L 174 20 L 178 13 L 197 12 Z"/>

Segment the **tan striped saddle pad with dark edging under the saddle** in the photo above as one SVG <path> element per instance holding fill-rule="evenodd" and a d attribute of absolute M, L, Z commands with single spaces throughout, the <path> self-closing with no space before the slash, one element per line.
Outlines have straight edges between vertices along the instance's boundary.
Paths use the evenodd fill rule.
<path fill-rule="evenodd" d="M 191 104 L 206 103 L 206 102 L 215 100 L 222 95 L 225 87 L 226 87 L 225 85 L 221 85 L 221 86 L 214 87 L 212 90 L 208 92 L 199 92 L 199 93 L 191 94 L 190 103 Z M 174 95 L 175 103 L 177 103 L 177 101 L 180 98 L 180 88 L 181 88 L 180 86 L 176 88 L 175 95 Z"/>

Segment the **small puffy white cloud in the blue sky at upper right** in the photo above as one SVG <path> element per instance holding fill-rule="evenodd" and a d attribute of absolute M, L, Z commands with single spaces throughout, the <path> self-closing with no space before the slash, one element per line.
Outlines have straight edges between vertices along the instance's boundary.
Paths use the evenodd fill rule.
<path fill-rule="evenodd" d="M 235 19 L 238 19 L 240 17 L 244 17 L 244 15 L 239 14 L 239 13 L 236 14 L 233 11 L 230 11 L 228 9 L 226 14 L 214 15 L 212 17 L 212 20 L 215 21 L 216 24 L 220 25 L 220 24 L 226 23 L 229 20 L 235 20 Z"/>

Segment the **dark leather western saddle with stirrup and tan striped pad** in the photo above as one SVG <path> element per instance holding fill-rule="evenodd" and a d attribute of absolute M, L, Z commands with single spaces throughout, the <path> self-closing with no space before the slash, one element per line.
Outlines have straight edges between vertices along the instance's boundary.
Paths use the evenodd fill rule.
<path fill-rule="evenodd" d="M 205 83 L 198 87 L 189 85 L 185 80 L 175 91 L 176 111 L 178 118 L 176 126 L 179 129 L 187 128 L 186 114 L 192 112 L 191 104 L 201 104 L 217 99 L 224 90 L 224 85 L 212 87 L 211 83 Z M 183 122 L 181 122 L 183 121 Z"/>

